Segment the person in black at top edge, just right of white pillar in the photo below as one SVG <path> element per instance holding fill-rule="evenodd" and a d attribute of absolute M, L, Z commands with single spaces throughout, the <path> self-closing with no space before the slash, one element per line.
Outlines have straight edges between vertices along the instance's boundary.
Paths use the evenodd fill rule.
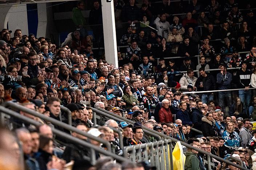
<path fill-rule="evenodd" d="M 135 5 L 135 0 L 129 0 L 129 3 L 124 5 L 121 18 L 123 22 L 128 22 L 131 24 L 136 24 L 136 22 L 140 21 L 140 9 Z"/>

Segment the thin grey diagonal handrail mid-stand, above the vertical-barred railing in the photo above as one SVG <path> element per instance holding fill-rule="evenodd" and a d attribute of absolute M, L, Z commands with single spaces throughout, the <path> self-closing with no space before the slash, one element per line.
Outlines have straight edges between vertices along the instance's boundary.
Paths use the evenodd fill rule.
<path fill-rule="evenodd" d="M 131 120 L 125 119 L 125 118 L 123 118 L 121 116 L 115 115 L 115 114 L 113 114 L 113 113 L 111 113 L 111 112 L 109 112 L 107 110 L 101 109 L 101 108 L 95 109 L 95 108 L 91 107 L 91 109 L 92 109 L 93 112 L 96 112 L 98 114 L 101 114 L 103 116 L 106 116 L 108 118 L 111 118 L 111 119 L 119 121 L 119 122 L 127 122 L 127 123 L 130 123 L 130 124 L 134 124 L 135 123 L 135 122 L 133 122 Z M 96 116 L 95 113 L 93 113 L 93 117 L 95 117 L 95 116 Z M 158 140 L 162 140 L 161 137 L 167 136 L 167 135 L 164 136 L 164 134 L 159 133 L 159 132 L 158 132 L 159 133 L 158 134 L 158 133 L 156 133 L 156 131 L 153 131 L 152 129 L 149 129 L 149 128 L 145 127 L 145 126 L 142 126 L 142 128 L 144 129 L 145 133 L 148 133 L 149 135 L 155 136 Z"/>

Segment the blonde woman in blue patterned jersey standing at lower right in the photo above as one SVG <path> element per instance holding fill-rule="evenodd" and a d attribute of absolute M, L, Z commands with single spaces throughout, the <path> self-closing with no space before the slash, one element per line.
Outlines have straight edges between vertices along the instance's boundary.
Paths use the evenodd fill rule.
<path fill-rule="evenodd" d="M 223 132 L 222 138 L 225 143 L 223 145 L 224 156 L 231 154 L 234 150 L 237 150 L 240 146 L 241 138 L 237 132 L 234 131 L 233 123 L 227 122 L 226 131 Z M 247 143 L 246 143 L 247 144 Z M 245 144 L 245 145 L 246 145 Z"/>

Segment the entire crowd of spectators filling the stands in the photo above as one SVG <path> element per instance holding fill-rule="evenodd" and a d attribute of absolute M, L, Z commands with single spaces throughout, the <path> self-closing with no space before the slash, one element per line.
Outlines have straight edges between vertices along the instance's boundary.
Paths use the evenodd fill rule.
<path fill-rule="evenodd" d="M 143 132 L 142 126 L 145 126 L 221 158 L 236 157 L 250 169 L 256 152 L 256 130 L 252 130 L 250 122 L 256 120 L 256 93 L 250 89 L 256 88 L 256 46 L 252 31 L 256 20 L 252 10 L 241 13 L 237 8 L 252 8 L 255 4 L 234 0 L 207 3 L 197 0 L 187 6 L 181 3 L 186 17 L 179 18 L 172 14 L 175 9 L 167 0 L 155 6 L 143 0 L 141 9 L 134 0 L 127 1 L 123 7 L 114 0 L 115 15 L 120 15 L 115 16 L 116 20 L 131 24 L 118 40 L 121 45 L 128 45 L 126 51 L 118 52 L 119 67 L 104 57 L 94 57 L 93 42 L 101 39 L 103 28 L 94 28 L 94 36 L 87 35 L 81 14 L 82 1 L 73 9 L 73 22 L 80 29 L 69 34 L 62 47 L 49 38 L 23 35 L 20 29 L 11 37 L 12 31 L 3 29 L 0 33 L 0 103 L 13 101 L 64 123 L 68 123 L 68 115 L 61 112 L 60 106 L 67 107 L 73 127 L 108 141 L 118 155 L 123 155 L 123 148 L 118 133 L 111 128 L 122 132 L 124 146 L 157 141 Z M 89 16 L 91 24 L 102 22 L 99 1 L 94 1 Z M 157 31 L 145 24 L 138 25 L 138 21 L 155 26 Z M 214 39 L 221 39 L 223 44 L 213 43 Z M 239 55 L 242 51 L 248 52 Z M 192 58 L 195 55 L 200 55 L 198 65 Z M 172 56 L 185 58 L 165 59 Z M 156 58 L 160 58 L 159 63 Z M 237 67 L 241 68 L 227 69 Z M 220 70 L 208 72 L 207 69 Z M 194 70 L 198 70 L 198 74 L 194 74 Z M 236 88 L 243 90 L 196 93 Z M 105 117 L 95 122 L 90 107 L 110 111 L 135 123 Z M 93 166 L 88 162 L 90 148 L 55 136 L 51 128 L 69 132 L 24 111 L 19 113 L 42 125 L 35 127 L 15 118 L 8 120 L 7 127 L 15 134 L 1 129 L 4 137 L 0 140 L 3 150 L 0 153 L 9 154 L 0 154 L 0 157 L 1 160 L 10 157 L 12 162 L 0 162 L 3 166 L 13 163 L 11 169 L 19 169 L 18 144 L 22 144 L 25 169 L 30 170 L 63 170 L 69 162 L 74 170 L 151 168 L 148 162 L 120 165 L 97 152 L 98 161 Z M 106 149 L 98 141 L 75 132 L 69 134 Z M 190 148 L 184 148 L 184 154 L 185 169 L 207 169 L 204 154 Z M 217 170 L 236 169 L 213 158 L 211 163 Z"/>

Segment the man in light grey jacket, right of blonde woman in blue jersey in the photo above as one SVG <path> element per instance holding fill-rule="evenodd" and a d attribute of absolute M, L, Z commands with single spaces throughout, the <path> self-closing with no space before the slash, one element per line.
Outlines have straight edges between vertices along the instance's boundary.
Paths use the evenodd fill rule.
<path fill-rule="evenodd" d="M 240 130 L 239 136 L 241 138 L 241 146 L 246 147 L 248 141 L 252 138 L 252 133 L 249 131 L 250 121 L 249 119 L 243 120 L 243 127 Z"/>

